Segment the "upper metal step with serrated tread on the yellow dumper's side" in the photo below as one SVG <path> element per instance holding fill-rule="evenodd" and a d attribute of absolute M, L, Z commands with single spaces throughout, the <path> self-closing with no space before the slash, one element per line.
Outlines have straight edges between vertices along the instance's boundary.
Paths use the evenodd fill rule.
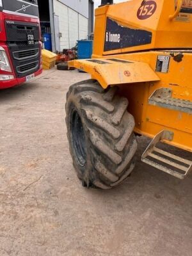
<path fill-rule="evenodd" d="M 172 90 L 170 88 L 157 89 L 148 99 L 148 103 L 161 108 L 178 110 L 184 113 L 192 113 L 192 102 L 172 98 Z"/>

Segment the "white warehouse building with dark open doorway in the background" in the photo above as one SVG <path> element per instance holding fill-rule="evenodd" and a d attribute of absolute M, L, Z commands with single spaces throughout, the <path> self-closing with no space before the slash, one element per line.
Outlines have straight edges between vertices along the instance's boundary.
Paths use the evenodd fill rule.
<path fill-rule="evenodd" d="M 69 49 L 93 33 L 93 0 L 38 0 L 45 49 Z"/>

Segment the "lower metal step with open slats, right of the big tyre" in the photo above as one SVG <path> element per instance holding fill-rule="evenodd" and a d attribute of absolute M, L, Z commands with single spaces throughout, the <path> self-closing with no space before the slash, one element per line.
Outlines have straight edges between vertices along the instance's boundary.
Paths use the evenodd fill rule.
<path fill-rule="evenodd" d="M 141 156 L 141 161 L 179 179 L 184 179 L 192 170 L 192 161 L 157 148 L 157 143 L 163 142 L 164 140 L 172 141 L 173 132 L 159 132 Z"/>

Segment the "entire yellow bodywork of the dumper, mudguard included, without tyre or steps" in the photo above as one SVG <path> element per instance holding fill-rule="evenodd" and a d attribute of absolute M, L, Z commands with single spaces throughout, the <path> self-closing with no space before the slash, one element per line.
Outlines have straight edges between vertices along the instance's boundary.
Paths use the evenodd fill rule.
<path fill-rule="evenodd" d="M 140 14 L 138 10 L 141 8 L 141 3 L 148 2 L 156 2 L 156 12 L 147 19 L 138 19 L 137 13 Z M 192 152 L 192 108 L 188 113 L 182 107 L 176 108 L 177 100 L 183 101 L 184 104 L 189 102 L 189 106 L 192 104 L 192 51 L 190 51 L 192 49 L 192 12 L 190 6 L 187 6 L 191 13 L 182 13 L 175 3 L 175 0 L 145 2 L 132 0 L 98 8 L 95 12 L 92 58 L 99 58 L 100 61 L 108 61 L 110 58 L 126 60 L 133 62 L 134 67 L 131 67 L 132 63 L 115 63 L 106 66 L 92 63 L 90 65 L 88 60 L 74 61 L 70 65 L 92 74 L 104 88 L 109 85 L 120 87 L 120 94 L 129 100 L 128 110 L 135 118 L 135 132 L 154 138 L 162 130 L 172 131 L 173 140 L 166 142 Z M 181 5 L 180 0 L 178 3 Z M 185 1 L 186 3 L 188 1 Z M 185 7 L 182 5 L 182 10 Z M 133 35 L 134 30 L 137 29 L 151 33 L 150 44 L 145 42 L 143 45 L 122 47 L 119 43 L 118 49 L 104 51 L 108 36 L 106 23 L 109 18 L 112 25 L 115 24 L 123 29 L 129 28 Z M 120 37 L 115 36 L 113 39 L 117 42 Z M 129 40 L 131 42 L 132 38 Z M 112 47 L 115 42 L 111 44 Z M 140 42 L 137 43 L 140 44 Z M 158 60 L 159 58 L 161 60 L 162 56 L 167 58 L 168 63 L 163 62 L 166 63 L 166 67 L 160 67 L 159 70 L 158 65 L 161 61 L 158 62 Z M 127 71 L 125 74 L 130 76 L 124 77 L 124 70 Z M 150 104 L 149 99 L 153 93 L 161 88 L 167 88 L 172 92 L 172 99 L 176 100 L 175 109 L 168 104 L 161 104 L 161 106 Z"/>

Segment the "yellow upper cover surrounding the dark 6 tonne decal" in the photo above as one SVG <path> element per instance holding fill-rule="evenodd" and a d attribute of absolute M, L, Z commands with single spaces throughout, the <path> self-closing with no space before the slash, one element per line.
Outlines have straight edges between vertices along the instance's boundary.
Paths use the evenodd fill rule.
<path fill-rule="evenodd" d="M 176 1 L 156 0 L 154 2 L 157 4 L 156 12 L 144 20 L 138 19 L 137 16 L 142 3 L 142 1 L 138 0 L 103 6 L 95 10 L 93 53 L 102 56 L 147 49 L 192 49 L 192 15 L 190 13 L 179 13 L 179 17 L 170 19 L 170 15 L 175 13 Z M 184 2 L 188 3 L 189 1 Z M 103 45 L 106 40 L 107 17 L 125 28 L 133 30 L 139 28 L 151 32 L 152 42 L 145 45 L 104 51 Z"/>

